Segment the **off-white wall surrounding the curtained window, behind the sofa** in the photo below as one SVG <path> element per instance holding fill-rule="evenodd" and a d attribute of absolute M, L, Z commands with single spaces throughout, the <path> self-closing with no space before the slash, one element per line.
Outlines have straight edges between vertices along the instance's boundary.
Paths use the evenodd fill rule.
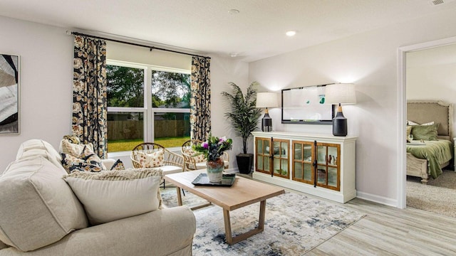
<path fill-rule="evenodd" d="M 0 52 L 21 56 L 21 134 L 0 135 L 0 173 L 14 161 L 19 145 L 27 139 L 44 139 L 56 148 L 65 134 L 71 134 L 73 102 L 73 36 L 66 28 L 46 26 L 0 16 Z M 108 43 L 108 58 L 135 61 L 132 53 L 119 49 L 118 43 Z M 125 45 L 123 46 L 125 47 Z M 190 69 L 190 56 L 170 54 L 147 48 L 135 48 L 142 63 L 172 68 Z M 117 50 L 115 50 L 117 49 Z M 130 49 L 131 50 L 131 49 Z M 139 56 L 139 57 L 138 57 Z M 136 60 L 137 60 L 136 58 Z M 189 60 L 188 63 L 182 60 Z M 219 92 L 227 82 L 247 86 L 247 63 L 231 58 L 212 56 L 212 130 L 214 135 L 229 134 L 224 119 Z M 236 147 L 236 145 L 235 145 Z M 235 161 L 233 150 L 232 161 Z M 123 159 L 125 165 L 129 158 Z M 231 166 L 233 166 L 232 162 Z"/>

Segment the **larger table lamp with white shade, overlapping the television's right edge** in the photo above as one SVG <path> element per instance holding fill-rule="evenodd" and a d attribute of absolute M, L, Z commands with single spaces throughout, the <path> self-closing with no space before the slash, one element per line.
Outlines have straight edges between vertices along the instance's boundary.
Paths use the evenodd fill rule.
<path fill-rule="evenodd" d="M 327 104 L 338 104 L 336 117 L 333 118 L 333 135 L 347 136 L 347 119 L 343 116 L 341 104 L 355 104 L 355 85 L 338 83 L 326 85 L 325 99 Z"/>

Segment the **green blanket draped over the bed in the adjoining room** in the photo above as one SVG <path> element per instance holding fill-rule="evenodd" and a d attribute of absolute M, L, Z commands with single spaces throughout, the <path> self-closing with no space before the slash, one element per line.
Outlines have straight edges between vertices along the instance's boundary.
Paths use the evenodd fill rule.
<path fill-rule="evenodd" d="M 440 164 L 450 161 L 453 156 L 453 146 L 449 140 L 438 139 L 425 141 L 425 145 L 407 145 L 407 153 L 418 159 L 427 159 L 427 174 L 437 178 L 442 174 Z"/>

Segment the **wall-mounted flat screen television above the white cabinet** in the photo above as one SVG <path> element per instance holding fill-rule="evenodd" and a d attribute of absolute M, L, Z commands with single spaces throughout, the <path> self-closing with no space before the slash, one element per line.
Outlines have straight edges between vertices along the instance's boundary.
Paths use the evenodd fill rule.
<path fill-rule="evenodd" d="M 336 105 L 325 103 L 326 85 L 281 90 L 282 124 L 332 124 Z"/>

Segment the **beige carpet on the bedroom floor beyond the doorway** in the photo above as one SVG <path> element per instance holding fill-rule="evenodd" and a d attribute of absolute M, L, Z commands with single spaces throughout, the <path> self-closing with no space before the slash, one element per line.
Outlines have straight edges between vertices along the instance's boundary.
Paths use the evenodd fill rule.
<path fill-rule="evenodd" d="M 456 172 L 443 170 L 427 185 L 421 178 L 407 177 L 407 206 L 456 218 Z"/>

